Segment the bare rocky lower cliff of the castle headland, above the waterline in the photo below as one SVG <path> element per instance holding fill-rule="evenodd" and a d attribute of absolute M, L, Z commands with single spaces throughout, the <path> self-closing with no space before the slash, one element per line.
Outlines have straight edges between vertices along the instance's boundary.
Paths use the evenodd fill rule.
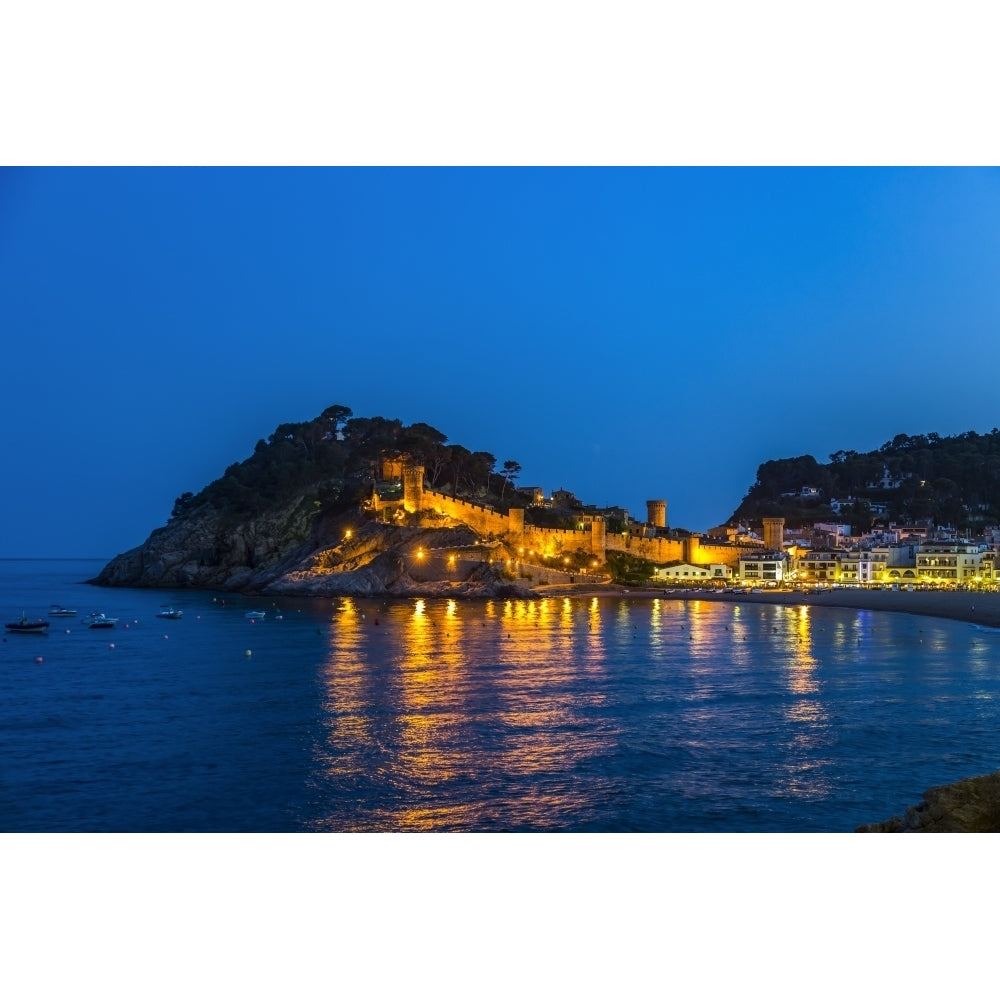
<path fill-rule="evenodd" d="M 91 582 L 314 596 L 530 594 L 503 576 L 502 559 L 489 562 L 479 541 L 447 519 L 385 525 L 356 512 L 325 516 L 303 499 L 239 521 L 205 505 L 116 556 Z M 440 559 L 415 559 L 417 550 L 459 555 L 445 570 Z"/>

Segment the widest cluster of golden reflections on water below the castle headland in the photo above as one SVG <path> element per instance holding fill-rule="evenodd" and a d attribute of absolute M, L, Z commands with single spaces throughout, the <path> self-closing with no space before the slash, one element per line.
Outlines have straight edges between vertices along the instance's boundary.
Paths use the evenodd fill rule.
<path fill-rule="evenodd" d="M 510 826 L 525 828 L 584 808 L 585 793 L 566 775 L 614 738 L 579 715 L 603 694 L 574 690 L 580 672 L 605 667 L 601 632 L 597 601 L 416 600 L 378 625 L 345 602 L 324 669 L 323 759 L 334 777 L 377 762 L 394 802 L 331 824 L 475 829 L 506 801 Z"/>

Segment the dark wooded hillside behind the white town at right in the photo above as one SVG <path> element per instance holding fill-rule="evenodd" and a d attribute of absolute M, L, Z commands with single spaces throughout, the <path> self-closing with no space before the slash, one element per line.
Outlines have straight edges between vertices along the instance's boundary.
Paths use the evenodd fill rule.
<path fill-rule="evenodd" d="M 801 496 L 805 487 L 817 495 Z M 830 502 L 849 497 L 856 502 L 835 514 Z M 764 462 L 733 512 L 734 521 L 761 517 L 784 517 L 788 527 L 849 521 L 855 533 L 882 521 L 929 520 L 969 532 L 1000 523 L 1000 430 L 897 434 L 875 451 L 835 452 L 826 464 L 812 455 Z"/>

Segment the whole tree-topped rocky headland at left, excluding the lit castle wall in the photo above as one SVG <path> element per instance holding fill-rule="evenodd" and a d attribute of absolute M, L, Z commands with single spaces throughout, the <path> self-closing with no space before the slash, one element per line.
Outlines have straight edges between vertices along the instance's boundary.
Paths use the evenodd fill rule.
<path fill-rule="evenodd" d="M 198 493 L 177 497 L 168 523 L 112 559 L 91 582 L 102 586 L 197 588 L 308 594 L 530 593 L 513 578 L 511 556 L 460 519 L 431 511 L 390 523 L 372 498 L 401 500 L 403 463 L 419 462 L 429 485 L 504 513 L 533 499 L 515 485 L 513 459 L 449 444 L 424 423 L 355 417 L 342 405 L 302 423 L 281 424 L 249 458 Z M 391 506 L 391 505 L 390 505 Z M 558 526 L 558 511 L 537 516 Z M 447 573 L 434 558 L 447 549 Z"/>

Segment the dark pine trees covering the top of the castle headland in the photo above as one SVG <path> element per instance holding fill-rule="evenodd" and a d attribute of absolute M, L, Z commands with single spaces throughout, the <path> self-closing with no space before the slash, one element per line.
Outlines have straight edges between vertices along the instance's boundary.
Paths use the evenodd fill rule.
<path fill-rule="evenodd" d="M 385 417 L 355 417 L 346 406 L 328 406 L 302 423 L 279 424 L 253 454 L 235 462 L 200 493 L 179 496 L 172 512 L 209 503 L 234 517 L 244 516 L 296 496 L 311 497 L 318 508 L 336 511 L 367 497 L 381 475 L 383 457 L 422 462 L 434 489 L 474 498 L 505 509 L 523 505 L 514 483 L 521 471 L 512 459 L 501 471 L 489 452 L 448 444 L 429 424 L 404 426 Z"/>

